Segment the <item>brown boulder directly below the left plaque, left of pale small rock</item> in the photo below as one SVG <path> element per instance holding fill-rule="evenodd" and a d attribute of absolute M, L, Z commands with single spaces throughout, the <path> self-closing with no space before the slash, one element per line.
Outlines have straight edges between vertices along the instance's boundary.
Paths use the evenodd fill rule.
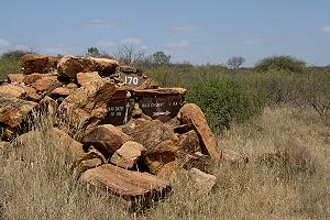
<path fill-rule="evenodd" d="M 82 140 L 85 148 L 94 146 L 106 157 L 110 157 L 122 144 L 132 138 L 112 124 L 103 124 L 92 129 Z"/>

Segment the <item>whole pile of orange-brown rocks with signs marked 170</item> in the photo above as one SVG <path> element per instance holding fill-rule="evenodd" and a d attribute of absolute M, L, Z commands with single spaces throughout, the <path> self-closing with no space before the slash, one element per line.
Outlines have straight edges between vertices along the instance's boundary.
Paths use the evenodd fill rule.
<path fill-rule="evenodd" d="M 129 199 L 152 198 L 166 194 L 184 168 L 209 191 L 216 177 L 206 173 L 216 162 L 244 162 L 218 150 L 200 108 L 185 103 L 184 88 L 152 86 L 141 70 L 108 58 L 29 54 L 22 64 L 23 74 L 0 86 L 1 140 L 24 133 L 35 112 L 55 125 L 65 122 L 68 134 L 82 134 L 80 143 L 57 128 L 52 133 L 76 152 L 80 182 Z"/>

